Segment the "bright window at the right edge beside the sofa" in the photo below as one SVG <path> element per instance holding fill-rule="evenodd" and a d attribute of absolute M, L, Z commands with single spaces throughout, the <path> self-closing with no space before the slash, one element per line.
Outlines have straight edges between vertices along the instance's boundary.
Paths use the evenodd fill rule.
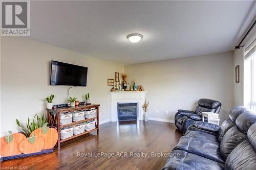
<path fill-rule="evenodd" d="M 256 111 L 256 40 L 244 52 L 245 105 Z"/>

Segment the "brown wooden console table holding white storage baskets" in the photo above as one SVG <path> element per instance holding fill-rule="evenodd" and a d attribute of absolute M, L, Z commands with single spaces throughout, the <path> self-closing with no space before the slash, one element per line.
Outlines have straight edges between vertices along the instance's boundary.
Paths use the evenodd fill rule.
<path fill-rule="evenodd" d="M 58 149 L 60 149 L 60 143 L 61 142 L 65 142 L 67 140 L 73 139 L 75 137 L 84 135 L 84 134 L 88 134 L 90 132 L 96 131 L 97 130 L 97 135 L 99 134 L 99 106 L 98 104 L 90 104 L 90 105 L 79 105 L 79 106 L 73 106 L 73 107 L 61 107 L 61 108 L 55 108 L 55 109 L 46 109 L 47 110 L 47 122 L 48 122 L 48 126 L 50 128 L 56 128 L 58 131 Z M 67 124 L 67 125 L 60 125 L 59 124 L 59 114 L 60 113 L 66 113 L 66 112 L 71 112 L 71 111 L 78 111 L 78 110 L 86 110 L 86 109 L 90 109 L 90 108 L 95 108 L 97 110 L 97 115 L 96 117 L 93 118 L 89 118 L 89 119 L 84 119 L 78 122 L 73 122 L 71 124 Z M 60 128 L 62 127 L 66 127 L 66 126 L 70 126 L 70 125 L 75 125 L 78 123 L 82 123 L 82 122 L 87 122 L 88 120 L 92 120 L 92 119 L 97 119 L 97 125 L 96 128 L 91 130 L 91 131 L 85 131 L 83 133 L 80 133 L 78 135 L 73 135 L 72 137 L 69 137 L 67 139 L 60 139 Z"/>

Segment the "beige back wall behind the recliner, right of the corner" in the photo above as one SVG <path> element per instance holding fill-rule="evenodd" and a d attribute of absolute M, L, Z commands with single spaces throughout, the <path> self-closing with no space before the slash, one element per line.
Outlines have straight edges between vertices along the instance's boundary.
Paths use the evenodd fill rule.
<path fill-rule="evenodd" d="M 124 72 L 147 91 L 152 119 L 173 122 L 178 109 L 193 110 L 209 98 L 222 103 L 222 123 L 233 107 L 232 52 L 125 65 Z"/>

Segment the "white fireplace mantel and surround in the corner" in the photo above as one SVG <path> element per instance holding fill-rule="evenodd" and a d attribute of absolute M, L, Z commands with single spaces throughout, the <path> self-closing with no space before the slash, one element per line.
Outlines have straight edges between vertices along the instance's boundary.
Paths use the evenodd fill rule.
<path fill-rule="evenodd" d="M 110 92 L 110 120 L 116 122 L 117 103 L 138 103 L 138 119 L 143 119 L 142 105 L 145 102 L 146 91 L 113 91 Z"/>

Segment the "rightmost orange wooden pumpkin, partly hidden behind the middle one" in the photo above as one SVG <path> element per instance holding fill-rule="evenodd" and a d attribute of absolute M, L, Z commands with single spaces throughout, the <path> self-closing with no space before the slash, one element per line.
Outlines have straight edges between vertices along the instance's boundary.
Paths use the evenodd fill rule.
<path fill-rule="evenodd" d="M 43 150 L 52 149 L 58 141 L 58 132 L 54 128 L 42 127 L 34 130 L 31 135 L 40 136 L 45 139 Z"/>

